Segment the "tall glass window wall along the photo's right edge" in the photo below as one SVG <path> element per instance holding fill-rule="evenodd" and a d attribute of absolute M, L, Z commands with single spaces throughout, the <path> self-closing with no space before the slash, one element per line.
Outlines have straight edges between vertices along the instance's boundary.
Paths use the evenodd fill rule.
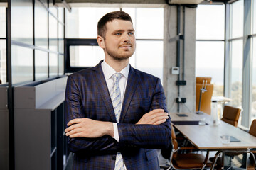
<path fill-rule="evenodd" d="M 255 0 L 238 0 L 226 5 L 226 41 L 229 81 L 225 94 L 230 105 L 242 108 L 238 125 L 250 127 L 255 115 Z M 227 51 L 227 50 L 226 50 Z"/>

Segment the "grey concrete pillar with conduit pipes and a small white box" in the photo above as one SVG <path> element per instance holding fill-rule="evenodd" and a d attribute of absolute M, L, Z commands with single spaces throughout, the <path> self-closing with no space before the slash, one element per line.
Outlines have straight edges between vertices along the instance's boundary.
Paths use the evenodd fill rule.
<path fill-rule="evenodd" d="M 185 11 L 183 11 L 185 10 Z M 164 91 L 169 113 L 178 111 L 178 80 L 177 74 L 171 74 L 171 67 L 176 67 L 177 41 L 172 40 L 177 35 L 178 6 L 166 6 L 164 8 Z M 179 112 L 196 111 L 196 78 L 195 78 L 195 56 L 196 56 L 196 8 L 181 6 L 181 40 L 180 48 L 180 79 L 182 79 L 184 62 L 185 86 L 180 86 L 180 97 L 186 98 L 186 103 L 179 104 Z M 183 17 L 185 15 L 185 17 Z M 185 24 L 185 28 L 183 28 Z M 184 43 L 183 43 L 184 41 Z M 185 60 L 183 60 L 183 52 Z M 186 106 L 185 106 L 186 105 Z"/>

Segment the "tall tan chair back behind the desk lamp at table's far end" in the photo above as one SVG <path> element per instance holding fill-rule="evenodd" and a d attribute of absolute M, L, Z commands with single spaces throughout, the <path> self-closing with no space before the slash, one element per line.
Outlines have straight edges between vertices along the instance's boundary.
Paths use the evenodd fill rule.
<path fill-rule="evenodd" d="M 210 115 L 210 103 L 213 96 L 213 84 L 210 84 L 211 77 L 196 77 L 196 111 L 202 111 Z M 201 89 L 206 87 L 206 91 L 200 95 Z M 201 96 L 201 103 L 199 108 Z"/>

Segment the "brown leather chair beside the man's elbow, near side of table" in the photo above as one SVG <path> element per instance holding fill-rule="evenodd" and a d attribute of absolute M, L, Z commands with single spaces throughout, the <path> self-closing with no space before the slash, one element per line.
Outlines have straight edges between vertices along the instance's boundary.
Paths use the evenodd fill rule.
<path fill-rule="evenodd" d="M 209 152 L 206 156 L 203 154 L 182 153 L 183 150 L 193 150 L 196 147 L 178 147 L 174 127 L 171 129 L 171 140 L 173 149 L 171 152 L 171 166 L 160 166 L 162 169 L 204 169 L 210 168 L 211 163 L 208 161 Z M 198 150 L 198 149 L 196 149 Z"/>

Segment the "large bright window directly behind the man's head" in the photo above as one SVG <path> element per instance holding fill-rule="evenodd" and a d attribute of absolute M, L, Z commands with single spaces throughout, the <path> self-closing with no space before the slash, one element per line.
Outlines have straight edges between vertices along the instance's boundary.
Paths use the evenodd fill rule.
<path fill-rule="evenodd" d="M 97 22 L 102 16 L 120 8 L 72 8 L 67 12 L 65 35 L 67 41 L 77 39 L 76 44 L 67 46 L 70 58 L 66 63 L 77 71 L 75 67 L 92 67 L 105 55 L 100 47 L 95 45 L 79 44 L 79 40 L 91 40 L 97 37 Z M 132 17 L 137 49 L 130 57 L 132 67 L 140 69 L 162 79 L 163 77 L 163 36 L 164 36 L 164 8 L 122 8 Z M 88 24 L 90 23 L 90 24 Z M 155 23 L 152 25 L 151 23 Z M 79 38 L 79 39 L 78 39 Z M 70 39 L 70 40 L 69 40 Z M 149 49 L 150 52 L 149 52 Z M 154 63 L 154 64 L 152 64 Z M 70 71 L 68 71 L 70 72 Z"/>

